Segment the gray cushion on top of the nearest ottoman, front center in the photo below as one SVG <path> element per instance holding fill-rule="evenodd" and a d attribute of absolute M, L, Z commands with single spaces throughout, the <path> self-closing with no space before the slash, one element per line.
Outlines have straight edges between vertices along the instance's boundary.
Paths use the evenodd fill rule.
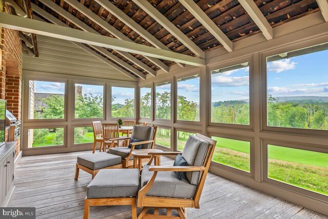
<path fill-rule="evenodd" d="M 99 170 L 87 187 L 87 197 L 135 197 L 138 189 L 138 169 Z"/>

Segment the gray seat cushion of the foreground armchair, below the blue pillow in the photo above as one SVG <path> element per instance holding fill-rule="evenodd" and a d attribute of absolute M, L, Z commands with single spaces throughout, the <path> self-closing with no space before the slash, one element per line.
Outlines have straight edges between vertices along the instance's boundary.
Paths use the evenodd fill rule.
<path fill-rule="evenodd" d="M 142 169 L 140 187 L 144 187 L 153 175 L 149 165 Z M 178 180 L 174 172 L 158 172 L 147 195 L 163 197 L 193 198 L 197 186 L 190 184 L 186 178 Z"/>

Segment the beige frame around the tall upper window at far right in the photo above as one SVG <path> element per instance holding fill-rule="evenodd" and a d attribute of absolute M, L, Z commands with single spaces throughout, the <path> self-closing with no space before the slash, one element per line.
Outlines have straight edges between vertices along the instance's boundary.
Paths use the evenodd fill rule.
<path fill-rule="evenodd" d="M 268 95 L 268 73 L 267 73 L 267 57 L 292 52 L 295 50 L 301 50 L 308 47 L 313 47 L 317 45 L 321 45 L 324 43 L 310 43 L 304 42 L 302 46 L 300 45 L 291 45 L 283 48 L 277 48 L 270 51 L 260 53 L 260 64 L 261 64 L 261 82 L 260 82 L 260 107 L 261 107 L 261 131 L 262 132 L 276 132 L 276 133 L 292 133 L 297 135 L 309 135 L 309 136 L 323 136 L 327 137 L 328 130 L 317 130 L 317 129 L 302 129 L 302 128 L 291 128 L 291 127 L 273 127 L 268 126 L 268 102 L 267 102 L 267 95 Z"/>

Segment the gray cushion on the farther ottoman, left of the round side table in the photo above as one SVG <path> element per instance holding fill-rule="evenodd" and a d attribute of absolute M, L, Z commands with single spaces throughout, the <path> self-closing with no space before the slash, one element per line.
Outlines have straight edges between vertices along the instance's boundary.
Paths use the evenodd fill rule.
<path fill-rule="evenodd" d="M 77 163 L 89 169 L 97 170 L 120 164 L 121 157 L 104 152 L 92 153 L 78 156 Z"/>

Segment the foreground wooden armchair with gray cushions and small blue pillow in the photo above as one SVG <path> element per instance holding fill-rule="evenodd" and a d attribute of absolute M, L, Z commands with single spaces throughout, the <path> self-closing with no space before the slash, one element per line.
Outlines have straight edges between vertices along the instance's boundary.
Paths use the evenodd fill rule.
<path fill-rule="evenodd" d="M 148 165 L 142 169 L 137 206 L 142 207 L 140 218 L 187 218 L 187 208 L 199 208 L 200 195 L 210 168 L 216 141 L 201 134 L 190 136 L 183 152 L 156 152 Z M 155 155 L 178 155 L 188 166 L 149 166 Z M 186 172 L 186 178 L 179 181 L 175 172 Z M 146 214 L 155 208 L 154 214 Z M 167 209 L 167 215 L 159 215 L 158 209 Z M 172 210 L 179 216 L 172 216 Z"/>

